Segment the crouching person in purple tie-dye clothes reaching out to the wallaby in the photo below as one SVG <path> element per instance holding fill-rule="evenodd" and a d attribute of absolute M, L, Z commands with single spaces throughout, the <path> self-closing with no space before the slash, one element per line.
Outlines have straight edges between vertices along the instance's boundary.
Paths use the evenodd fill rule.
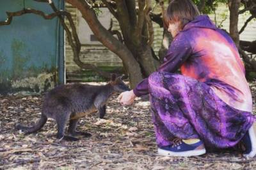
<path fill-rule="evenodd" d="M 254 157 L 252 95 L 230 36 L 191 0 L 171 1 L 164 23 L 174 39 L 163 65 L 121 93 L 120 104 L 149 94 L 160 155 L 202 155 L 241 141 L 244 156 Z M 178 68 L 181 74 L 173 73 Z"/>

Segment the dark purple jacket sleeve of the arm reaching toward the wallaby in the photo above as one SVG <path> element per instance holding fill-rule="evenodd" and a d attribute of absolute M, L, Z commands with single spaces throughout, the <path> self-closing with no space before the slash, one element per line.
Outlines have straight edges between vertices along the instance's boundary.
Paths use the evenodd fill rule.
<path fill-rule="evenodd" d="M 175 37 L 168 52 L 164 57 L 164 63 L 159 66 L 157 72 L 175 72 L 192 54 L 192 48 L 186 35 L 180 34 Z M 148 78 L 139 82 L 136 88 L 133 89 L 137 97 L 148 94 Z"/>

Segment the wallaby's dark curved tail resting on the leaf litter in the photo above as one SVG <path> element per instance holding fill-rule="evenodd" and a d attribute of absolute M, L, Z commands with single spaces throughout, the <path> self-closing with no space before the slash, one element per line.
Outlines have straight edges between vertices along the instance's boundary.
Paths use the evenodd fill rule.
<path fill-rule="evenodd" d="M 19 123 L 16 125 L 17 130 L 22 130 L 26 134 L 31 134 L 33 132 L 36 132 L 37 130 L 40 130 L 42 127 L 44 127 L 44 124 L 47 121 L 47 117 L 42 114 L 40 120 L 33 126 L 33 127 L 25 127 L 23 125 L 20 125 Z"/>

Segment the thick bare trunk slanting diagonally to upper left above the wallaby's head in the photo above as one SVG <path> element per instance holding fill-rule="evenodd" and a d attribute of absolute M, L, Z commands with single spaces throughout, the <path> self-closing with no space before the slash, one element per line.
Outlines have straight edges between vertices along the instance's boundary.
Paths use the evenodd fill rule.
<path fill-rule="evenodd" d="M 113 35 L 111 35 L 102 24 L 100 24 L 90 4 L 83 0 L 67 0 L 67 3 L 76 7 L 81 12 L 83 19 L 86 20 L 97 39 L 122 59 L 125 69 L 129 72 L 131 88 L 134 88 L 143 77 L 140 65 L 132 55 L 131 51 L 127 49 L 122 42 L 119 42 Z"/>

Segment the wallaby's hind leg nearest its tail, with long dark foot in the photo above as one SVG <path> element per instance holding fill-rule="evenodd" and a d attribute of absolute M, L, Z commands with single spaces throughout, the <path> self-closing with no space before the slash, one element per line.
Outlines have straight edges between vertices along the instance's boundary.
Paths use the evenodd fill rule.
<path fill-rule="evenodd" d="M 58 127 L 57 139 L 64 139 L 66 141 L 78 141 L 76 137 L 65 135 L 65 125 L 68 120 L 69 114 L 64 114 L 63 116 L 58 116 L 56 118 L 56 123 Z"/>

